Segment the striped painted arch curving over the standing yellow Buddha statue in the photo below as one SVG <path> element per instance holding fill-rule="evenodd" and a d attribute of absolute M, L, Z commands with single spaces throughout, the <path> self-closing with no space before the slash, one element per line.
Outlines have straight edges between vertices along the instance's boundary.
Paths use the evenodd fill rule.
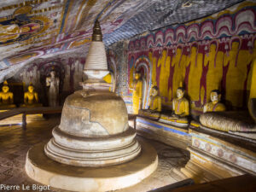
<path fill-rule="evenodd" d="M 143 108 L 147 108 L 148 106 L 148 97 L 150 94 L 150 88 L 152 84 L 152 65 L 146 56 L 140 56 L 135 61 L 135 70 L 133 72 L 133 77 L 135 73 L 141 73 L 141 77 L 143 80 Z"/>

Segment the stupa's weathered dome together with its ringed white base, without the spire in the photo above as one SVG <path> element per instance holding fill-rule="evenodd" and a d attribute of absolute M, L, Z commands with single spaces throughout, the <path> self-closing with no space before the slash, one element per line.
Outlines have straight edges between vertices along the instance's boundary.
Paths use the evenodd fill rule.
<path fill-rule="evenodd" d="M 125 102 L 109 91 L 79 90 L 68 96 L 52 134 L 45 154 L 73 166 L 116 165 L 141 151 Z"/>

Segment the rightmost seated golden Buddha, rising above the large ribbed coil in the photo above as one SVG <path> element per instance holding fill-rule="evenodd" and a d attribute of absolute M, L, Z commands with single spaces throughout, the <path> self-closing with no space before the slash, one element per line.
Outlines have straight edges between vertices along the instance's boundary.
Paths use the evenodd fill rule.
<path fill-rule="evenodd" d="M 211 91 L 211 102 L 207 102 L 204 106 L 203 112 L 217 112 L 217 111 L 225 111 L 226 108 L 223 103 L 220 101 L 221 94 L 219 90 L 212 90 Z"/>

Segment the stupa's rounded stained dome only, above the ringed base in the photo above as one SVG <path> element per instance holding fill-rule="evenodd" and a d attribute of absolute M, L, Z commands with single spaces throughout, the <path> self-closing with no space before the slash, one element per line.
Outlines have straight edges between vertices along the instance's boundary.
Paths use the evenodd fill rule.
<path fill-rule="evenodd" d="M 79 137 L 102 137 L 128 129 L 125 102 L 112 92 L 90 93 L 77 91 L 68 96 L 61 115 L 61 131 Z"/>

